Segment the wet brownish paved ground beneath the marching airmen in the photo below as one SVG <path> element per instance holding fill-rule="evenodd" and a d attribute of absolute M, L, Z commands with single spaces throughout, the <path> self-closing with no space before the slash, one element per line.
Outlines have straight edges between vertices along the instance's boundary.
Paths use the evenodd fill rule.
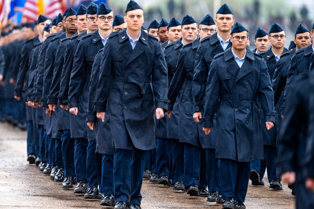
<path fill-rule="evenodd" d="M 26 161 L 26 132 L 0 123 L 0 208 L 110 208 L 100 206 L 100 201 L 84 201 L 73 189 L 62 190 L 55 183 Z M 264 179 L 265 182 L 268 182 Z M 252 186 L 246 196 L 246 208 L 290 209 L 294 208 L 291 190 L 284 185 L 283 191 L 273 191 L 265 186 Z M 142 187 L 142 208 L 210 208 L 221 205 L 206 202 L 206 198 L 192 198 L 175 193 L 172 188 L 149 184 Z"/>

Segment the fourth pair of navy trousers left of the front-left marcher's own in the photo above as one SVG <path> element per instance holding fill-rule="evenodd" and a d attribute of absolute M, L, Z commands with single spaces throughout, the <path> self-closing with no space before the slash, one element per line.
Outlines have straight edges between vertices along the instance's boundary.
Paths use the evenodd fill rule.
<path fill-rule="evenodd" d="M 64 176 L 75 176 L 75 166 L 74 166 L 74 138 L 71 138 L 71 131 L 63 130 L 61 136 L 62 142 L 62 156 L 63 156 L 63 166 L 64 166 Z"/>

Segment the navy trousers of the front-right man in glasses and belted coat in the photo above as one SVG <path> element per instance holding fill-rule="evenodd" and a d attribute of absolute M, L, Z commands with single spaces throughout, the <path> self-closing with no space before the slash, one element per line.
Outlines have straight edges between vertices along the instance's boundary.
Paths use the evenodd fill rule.
<path fill-rule="evenodd" d="M 219 159 L 220 194 L 225 198 L 245 201 L 250 177 L 250 162 L 238 162 L 232 159 Z"/>

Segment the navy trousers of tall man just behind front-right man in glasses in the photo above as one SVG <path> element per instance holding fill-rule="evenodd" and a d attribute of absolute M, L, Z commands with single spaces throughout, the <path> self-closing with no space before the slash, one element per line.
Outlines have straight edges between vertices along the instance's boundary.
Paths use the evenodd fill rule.
<path fill-rule="evenodd" d="M 220 191 L 218 159 L 216 149 L 205 149 L 206 153 L 206 175 L 208 191 Z"/>

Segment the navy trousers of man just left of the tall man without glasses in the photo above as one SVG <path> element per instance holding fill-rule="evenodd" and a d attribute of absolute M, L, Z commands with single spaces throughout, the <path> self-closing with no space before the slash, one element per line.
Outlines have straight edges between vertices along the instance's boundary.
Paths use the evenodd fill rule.
<path fill-rule="evenodd" d="M 201 148 L 184 143 L 184 186 L 186 189 L 191 184 L 199 185 L 200 167 Z"/>

